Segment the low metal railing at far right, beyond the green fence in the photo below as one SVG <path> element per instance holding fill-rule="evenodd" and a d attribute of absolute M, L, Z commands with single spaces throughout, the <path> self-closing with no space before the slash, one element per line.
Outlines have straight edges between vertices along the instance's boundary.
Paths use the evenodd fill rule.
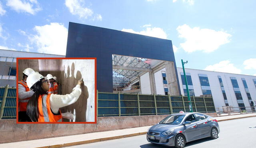
<path fill-rule="evenodd" d="M 232 114 L 232 113 L 247 113 L 247 112 L 256 112 L 256 106 L 254 107 L 232 107 L 232 106 L 227 106 L 227 107 L 217 107 L 216 112 L 221 115 L 221 113 L 227 113 L 227 114 Z"/>

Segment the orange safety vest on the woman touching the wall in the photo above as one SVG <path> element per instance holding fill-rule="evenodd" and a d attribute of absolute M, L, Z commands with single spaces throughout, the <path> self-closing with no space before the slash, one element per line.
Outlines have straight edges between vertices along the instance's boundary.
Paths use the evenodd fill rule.
<path fill-rule="evenodd" d="M 38 122 L 62 122 L 61 112 L 54 115 L 50 107 L 51 95 L 39 95 L 38 97 Z"/>

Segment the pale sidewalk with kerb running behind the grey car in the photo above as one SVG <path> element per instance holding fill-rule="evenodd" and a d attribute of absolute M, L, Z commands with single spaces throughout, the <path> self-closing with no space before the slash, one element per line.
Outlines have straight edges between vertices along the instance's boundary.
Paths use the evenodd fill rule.
<path fill-rule="evenodd" d="M 256 113 L 236 114 L 236 115 L 230 115 L 230 116 L 218 116 L 214 118 L 216 118 L 218 122 L 221 122 L 226 120 L 234 120 L 238 118 L 248 118 L 248 117 L 254 117 L 254 116 L 256 116 Z M 66 146 L 75 146 L 79 144 L 87 144 L 92 142 L 100 142 L 105 140 L 112 140 L 112 139 L 146 134 L 146 131 L 150 127 L 151 126 L 143 126 L 143 127 L 128 128 L 123 130 L 79 134 L 74 136 L 63 136 L 63 137 L 56 137 L 56 138 L 45 138 L 45 139 L 38 139 L 38 140 L 22 141 L 22 142 L 12 142 L 12 143 L 0 144 L 0 148 L 13 148 L 13 147 L 60 148 L 60 147 L 66 147 Z"/>

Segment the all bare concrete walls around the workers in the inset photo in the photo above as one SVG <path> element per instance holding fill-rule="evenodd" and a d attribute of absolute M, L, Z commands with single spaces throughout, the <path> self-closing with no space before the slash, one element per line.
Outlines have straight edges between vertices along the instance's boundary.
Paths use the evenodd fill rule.
<path fill-rule="evenodd" d="M 79 79 L 84 79 L 81 86 L 82 94 L 76 103 L 61 108 L 62 112 L 76 114 L 76 122 L 95 121 L 95 71 L 94 59 L 19 59 L 18 77 L 22 79 L 22 71 L 25 68 L 32 68 L 46 76 L 48 73 L 57 77 L 60 83 L 59 95 L 66 95 L 72 92 Z M 88 93 L 87 93 L 88 90 Z M 64 120 L 68 121 L 68 120 Z"/>

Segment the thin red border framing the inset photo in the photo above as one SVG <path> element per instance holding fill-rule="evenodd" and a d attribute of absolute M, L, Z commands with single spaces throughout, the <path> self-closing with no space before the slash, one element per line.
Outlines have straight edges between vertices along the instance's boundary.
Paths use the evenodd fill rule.
<path fill-rule="evenodd" d="M 94 59 L 94 122 L 19 122 L 18 121 L 18 72 L 16 73 L 16 123 L 17 124 L 96 124 L 97 123 L 97 58 L 96 57 L 17 57 L 16 71 L 19 59 Z"/>

